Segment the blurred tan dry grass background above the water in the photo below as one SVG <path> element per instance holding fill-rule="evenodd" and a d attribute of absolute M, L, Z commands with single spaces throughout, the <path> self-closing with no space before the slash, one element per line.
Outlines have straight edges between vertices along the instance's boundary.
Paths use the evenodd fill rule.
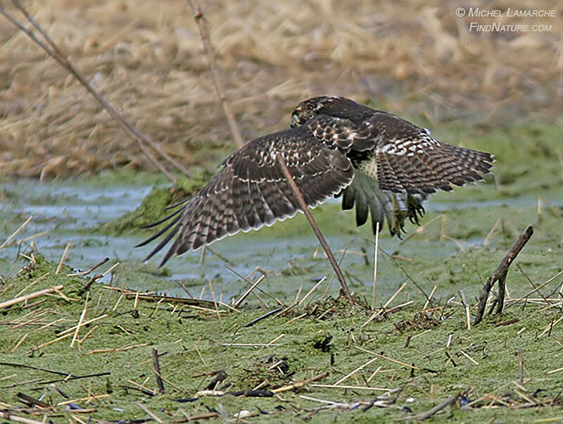
<path fill-rule="evenodd" d="M 551 24 L 551 32 L 469 32 L 470 21 L 495 19 L 455 15 L 458 6 L 555 7 L 514 3 L 201 0 L 245 139 L 286 127 L 293 106 L 317 94 L 372 101 L 432 124 L 563 124 L 563 10 L 557 18 L 496 18 Z M 25 6 L 94 87 L 168 153 L 189 166 L 204 158 L 203 147 L 230 143 L 184 0 Z M 0 175 L 124 167 L 152 169 L 65 70 L 0 18 Z"/>

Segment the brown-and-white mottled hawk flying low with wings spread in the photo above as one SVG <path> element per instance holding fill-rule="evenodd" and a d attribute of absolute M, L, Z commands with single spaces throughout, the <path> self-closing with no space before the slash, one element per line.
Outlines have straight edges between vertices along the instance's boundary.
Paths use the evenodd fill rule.
<path fill-rule="evenodd" d="M 139 246 L 172 230 L 147 259 L 174 237 L 161 266 L 172 254 L 301 211 L 277 154 L 308 206 L 341 195 L 343 209 L 355 205 L 358 225 L 369 212 L 374 231 L 387 218 L 391 235 L 400 234 L 406 218 L 418 223 L 429 194 L 481 180 L 493 163 L 491 154 L 440 142 L 391 113 L 345 97 L 313 97 L 295 108 L 289 130 L 248 142 L 222 163 L 208 185 L 149 225 L 167 223 Z"/>

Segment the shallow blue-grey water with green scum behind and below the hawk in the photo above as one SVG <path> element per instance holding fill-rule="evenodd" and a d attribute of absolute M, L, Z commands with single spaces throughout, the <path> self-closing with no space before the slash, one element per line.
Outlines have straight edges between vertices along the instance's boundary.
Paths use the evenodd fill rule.
<path fill-rule="evenodd" d="M 128 183 L 112 182 L 35 182 L 19 180 L 0 183 L 0 194 L 4 199 L 0 201 L 0 240 L 6 239 L 29 216 L 31 222 L 16 237 L 18 240 L 48 232 L 33 240 L 38 251 L 52 261 L 58 261 L 69 240 L 72 247 L 65 262 L 77 269 L 88 269 L 103 258 L 110 261 L 100 270 L 107 269 L 115 261 L 122 263 L 122 269 L 127 272 L 116 273 L 120 284 L 137 289 L 156 290 L 171 295 L 185 296 L 184 289 L 179 287 L 182 281 L 191 296 L 201 295 L 210 299 L 209 281 L 213 282 L 217 297 L 229 299 L 241 292 L 247 285 L 239 275 L 247 276 L 248 280 L 255 280 L 261 270 L 267 273 L 267 279 L 260 287 L 277 297 L 293 297 L 301 285 L 303 292 L 315 282 L 327 276 L 331 278 L 332 271 L 324 254 L 318 247 L 317 240 L 305 218 L 299 214 L 296 218 L 277 223 L 271 228 L 260 232 L 249 232 L 234 237 L 227 237 L 211 246 L 222 258 L 206 251 L 191 252 L 180 258 L 172 258 L 166 264 L 169 275 L 154 275 L 158 272 L 156 266 L 163 254 L 157 254 L 149 262 L 149 266 L 142 266 L 146 254 L 151 246 L 135 249 L 134 245 L 141 242 L 146 233 L 125 234 L 118 237 L 103 235 L 95 230 L 110 220 L 119 218 L 124 213 L 132 211 L 150 192 L 152 185 L 146 182 Z M 543 197 L 554 206 L 563 204 L 561 190 L 554 189 L 543 193 Z M 505 199 L 487 199 L 486 193 L 494 196 L 495 189 L 491 186 L 469 187 L 457 189 L 453 194 L 438 194 L 426 204 L 427 216 L 422 224 L 436 217 L 439 213 L 457 210 L 491 211 L 491 219 L 495 218 L 495 208 L 535 208 L 538 203 L 536 194 L 526 194 L 521 197 Z M 484 193 L 484 195 L 483 195 Z M 484 199 L 484 200 L 483 200 Z M 350 275 L 350 285 L 359 292 L 369 292 L 372 284 L 373 237 L 369 233 L 369 226 L 365 225 L 360 231 L 355 228 L 354 214 L 339 210 L 337 200 L 329 201 L 315 209 L 314 215 L 320 222 L 329 244 L 340 257 L 343 250 L 347 254 L 343 258 L 343 269 Z M 453 214 L 453 213 L 452 213 Z M 489 215 L 491 215 L 489 214 Z M 476 213 L 479 215 L 479 213 Z M 494 221 L 493 221 L 494 222 Z M 434 224 L 438 225 L 438 224 Z M 484 224 L 483 224 L 484 225 Z M 389 253 L 396 252 L 405 258 L 406 263 L 416 258 L 417 261 L 427 263 L 441 263 L 461 248 L 479 245 L 483 242 L 491 225 L 487 224 L 481 234 L 469 239 L 455 241 L 447 239 L 441 244 L 434 237 L 413 237 L 401 244 L 399 239 L 381 237 L 381 249 Z M 408 232 L 416 230 L 414 225 L 407 225 Z M 382 234 L 385 234 L 384 231 Z M 25 242 L 21 251 L 25 252 L 31 241 Z M 365 253 L 361 249 L 365 250 Z M 13 261 L 17 257 L 18 247 L 8 247 L 0 250 L 0 274 L 11 274 Z M 229 269 L 231 268 L 231 269 Z M 398 270 L 384 255 L 379 259 L 379 293 L 392 293 L 405 275 Z M 103 282 L 109 282 L 109 274 Z M 425 282 L 427 286 L 429 283 Z M 362 287 L 363 286 L 363 287 Z M 337 287 L 337 282 L 332 282 Z M 444 295 L 455 290 L 445 289 Z"/>

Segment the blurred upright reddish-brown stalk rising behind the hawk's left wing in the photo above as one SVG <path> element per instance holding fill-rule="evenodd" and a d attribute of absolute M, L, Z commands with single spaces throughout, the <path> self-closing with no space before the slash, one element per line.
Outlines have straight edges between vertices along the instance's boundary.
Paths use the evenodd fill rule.
<path fill-rule="evenodd" d="M 199 35 L 201 37 L 201 43 L 203 44 L 203 50 L 205 50 L 205 56 L 207 56 L 208 66 L 213 75 L 213 85 L 215 86 L 215 92 L 219 98 L 221 106 L 223 106 L 223 111 L 225 116 L 227 116 L 227 122 L 231 129 L 231 134 L 234 138 L 236 147 L 240 149 L 243 145 L 243 139 L 241 137 L 241 132 L 239 131 L 238 125 L 236 125 L 236 120 L 234 119 L 234 113 L 229 106 L 227 101 L 227 95 L 224 93 L 223 82 L 221 79 L 221 71 L 219 64 L 217 63 L 217 56 L 215 55 L 215 49 L 213 49 L 213 43 L 211 42 L 211 37 L 209 35 L 209 30 L 207 27 L 207 20 L 203 16 L 201 7 L 196 0 L 187 0 L 189 7 L 191 8 L 191 13 L 194 14 L 194 20 L 198 25 Z"/>

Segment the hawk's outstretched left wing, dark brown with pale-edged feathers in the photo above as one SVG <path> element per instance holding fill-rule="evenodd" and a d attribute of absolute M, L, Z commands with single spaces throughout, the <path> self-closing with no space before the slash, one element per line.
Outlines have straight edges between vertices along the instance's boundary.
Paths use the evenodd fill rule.
<path fill-rule="evenodd" d="M 277 154 L 301 190 L 308 206 L 341 192 L 353 179 L 350 160 L 329 149 L 305 127 L 274 132 L 249 142 L 222 163 L 222 170 L 184 206 L 152 226 L 167 222 L 155 235 L 139 244 L 167 235 L 148 255 L 151 258 L 176 237 L 162 266 L 172 254 L 194 250 L 239 231 L 257 230 L 301 209 L 277 163 Z"/>

